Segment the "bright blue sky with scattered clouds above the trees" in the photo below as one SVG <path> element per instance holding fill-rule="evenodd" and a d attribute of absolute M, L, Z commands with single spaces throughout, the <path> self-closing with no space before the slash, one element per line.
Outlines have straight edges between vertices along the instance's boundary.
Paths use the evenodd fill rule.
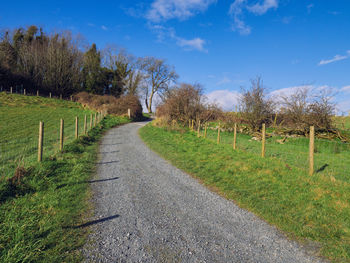
<path fill-rule="evenodd" d="M 166 59 L 179 82 L 200 83 L 233 110 L 241 88 L 261 77 L 271 96 L 329 88 L 350 111 L 350 1 L 4 1 L 0 28 L 71 30 L 100 49 Z"/>

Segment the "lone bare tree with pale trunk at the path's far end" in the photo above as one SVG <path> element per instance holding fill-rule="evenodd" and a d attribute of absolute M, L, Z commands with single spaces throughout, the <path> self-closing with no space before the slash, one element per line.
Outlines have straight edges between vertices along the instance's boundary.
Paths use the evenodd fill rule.
<path fill-rule="evenodd" d="M 148 89 L 145 91 L 145 104 L 148 112 L 152 112 L 154 95 L 166 91 L 169 86 L 176 82 L 178 75 L 173 67 L 165 63 L 163 59 L 146 57 L 142 59 L 142 69 L 146 74 Z"/>

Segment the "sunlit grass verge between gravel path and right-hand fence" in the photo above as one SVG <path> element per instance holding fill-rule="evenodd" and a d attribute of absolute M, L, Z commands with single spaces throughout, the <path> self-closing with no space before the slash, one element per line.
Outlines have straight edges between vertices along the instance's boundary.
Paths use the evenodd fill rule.
<path fill-rule="evenodd" d="M 315 241 L 323 256 L 350 261 L 350 184 L 324 174 L 310 177 L 284 162 L 231 145 L 146 125 L 142 139 L 175 166 L 301 242 Z"/>

